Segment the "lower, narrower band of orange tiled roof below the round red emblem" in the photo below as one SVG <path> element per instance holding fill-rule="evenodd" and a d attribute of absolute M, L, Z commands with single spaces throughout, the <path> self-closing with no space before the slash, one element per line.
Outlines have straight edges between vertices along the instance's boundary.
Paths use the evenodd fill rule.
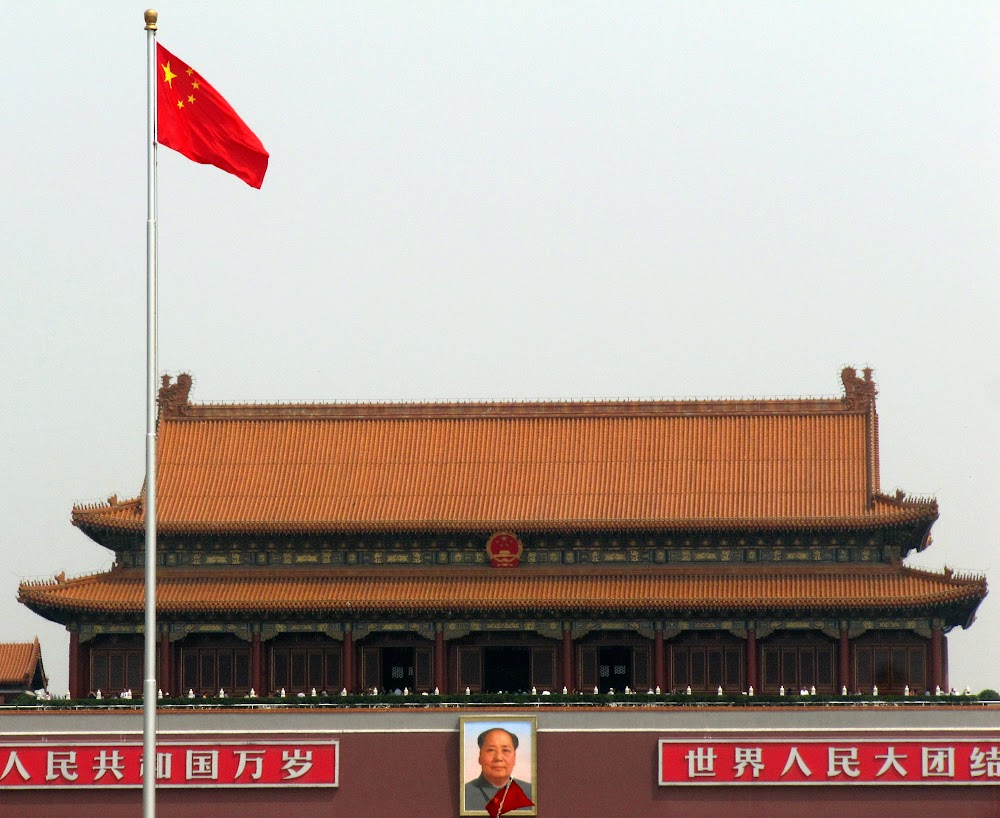
<path fill-rule="evenodd" d="M 161 616 L 331 617 L 524 615 L 601 611 L 666 615 L 682 611 L 857 611 L 940 608 L 986 595 L 982 577 L 893 565 L 836 567 L 741 565 L 600 569 L 161 569 Z M 144 609 L 141 569 L 72 580 L 25 583 L 19 599 L 46 615 L 130 614 Z M 960 624 L 966 624 L 964 621 Z"/>

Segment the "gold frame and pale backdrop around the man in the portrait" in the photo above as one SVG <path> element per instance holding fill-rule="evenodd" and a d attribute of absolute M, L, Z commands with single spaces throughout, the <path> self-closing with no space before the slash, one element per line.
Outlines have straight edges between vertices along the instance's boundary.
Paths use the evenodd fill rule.
<path fill-rule="evenodd" d="M 482 773 L 479 763 L 479 736 L 488 730 L 506 730 L 517 736 L 516 762 L 511 775 L 518 782 L 530 784 L 528 797 L 533 807 L 523 807 L 509 814 L 512 816 L 538 815 L 538 743 L 537 722 L 534 716 L 495 715 L 463 716 L 458 725 L 458 805 L 459 815 L 489 815 L 485 804 L 470 803 L 479 796 L 473 786 Z M 467 786 L 469 785 L 469 786 Z M 470 795 L 471 793 L 471 795 Z"/>

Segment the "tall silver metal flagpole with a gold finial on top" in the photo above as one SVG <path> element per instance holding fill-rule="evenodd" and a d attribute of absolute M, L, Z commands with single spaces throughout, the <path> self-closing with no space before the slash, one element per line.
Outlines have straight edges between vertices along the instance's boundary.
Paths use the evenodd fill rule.
<path fill-rule="evenodd" d="M 156 815 L 156 19 L 146 22 L 146 622 L 142 815 Z"/>

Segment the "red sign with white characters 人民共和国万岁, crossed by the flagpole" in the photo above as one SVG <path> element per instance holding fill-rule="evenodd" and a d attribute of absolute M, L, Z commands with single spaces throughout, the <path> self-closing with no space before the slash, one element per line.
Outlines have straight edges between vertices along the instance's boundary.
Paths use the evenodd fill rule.
<path fill-rule="evenodd" d="M 336 787 L 339 744 L 297 742 L 159 742 L 158 787 Z M 142 744 L 2 744 L 0 790 L 140 787 Z"/>

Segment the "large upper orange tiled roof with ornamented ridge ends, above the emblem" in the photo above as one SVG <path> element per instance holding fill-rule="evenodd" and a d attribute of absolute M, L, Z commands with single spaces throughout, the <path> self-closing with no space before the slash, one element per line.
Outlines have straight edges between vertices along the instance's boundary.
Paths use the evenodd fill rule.
<path fill-rule="evenodd" d="M 865 527 L 937 516 L 933 500 L 879 494 L 870 372 L 845 370 L 840 399 L 507 404 L 198 405 L 185 377 L 161 390 L 165 533 Z M 92 536 L 139 532 L 142 498 L 78 506 L 73 521 Z"/>

